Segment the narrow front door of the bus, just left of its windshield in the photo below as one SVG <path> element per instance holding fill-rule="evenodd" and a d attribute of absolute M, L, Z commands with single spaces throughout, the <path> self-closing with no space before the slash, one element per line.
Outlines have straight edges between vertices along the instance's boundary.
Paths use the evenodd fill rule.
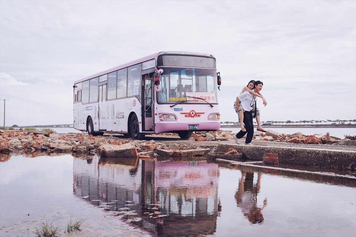
<path fill-rule="evenodd" d="M 153 131 L 153 116 L 152 116 L 152 104 L 153 104 L 153 90 L 152 90 L 152 76 L 144 75 L 144 93 L 142 93 L 143 103 L 142 103 L 142 131 Z"/>

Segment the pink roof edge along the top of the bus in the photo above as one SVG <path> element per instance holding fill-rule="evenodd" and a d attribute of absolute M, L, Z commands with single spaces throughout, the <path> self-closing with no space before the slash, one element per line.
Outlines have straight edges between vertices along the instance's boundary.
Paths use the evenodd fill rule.
<path fill-rule="evenodd" d="M 116 71 L 116 70 L 120 70 L 122 68 L 126 68 L 126 67 L 129 67 L 129 66 L 138 64 L 138 63 L 142 63 L 142 62 L 148 61 L 148 60 L 153 59 L 153 58 L 157 58 L 161 54 L 187 54 L 187 55 L 209 56 L 209 57 L 213 57 L 214 58 L 213 54 L 184 52 L 184 51 L 161 51 L 161 52 L 157 52 L 157 53 L 145 56 L 143 58 L 139 58 L 139 59 L 133 60 L 133 61 L 131 61 L 129 63 L 121 64 L 121 65 L 116 66 L 114 68 L 110 68 L 110 69 L 95 73 L 95 74 L 93 74 L 91 76 L 84 77 L 83 79 L 74 81 L 74 84 L 77 84 L 79 82 L 86 81 L 88 79 L 95 78 L 95 77 L 98 77 L 98 76 L 101 76 L 101 75 L 105 75 L 107 73 L 110 73 L 110 72 L 113 72 L 113 71 Z"/>

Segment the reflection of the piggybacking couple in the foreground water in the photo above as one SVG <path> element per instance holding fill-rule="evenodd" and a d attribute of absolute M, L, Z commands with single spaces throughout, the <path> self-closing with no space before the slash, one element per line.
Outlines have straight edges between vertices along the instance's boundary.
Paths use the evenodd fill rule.
<path fill-rule="evenodd" d="M 242 172 L 239 189 L 235 194 L 237 206 L 251 223 L 262 223 L 262 209 L 267 205 L 267 198 L 263 200 L 262 208 L 257 206 L 257 195 L 261 188 L 261 172 L 258 172 L 257 183 L 253 183 L 253 172 Z"/>

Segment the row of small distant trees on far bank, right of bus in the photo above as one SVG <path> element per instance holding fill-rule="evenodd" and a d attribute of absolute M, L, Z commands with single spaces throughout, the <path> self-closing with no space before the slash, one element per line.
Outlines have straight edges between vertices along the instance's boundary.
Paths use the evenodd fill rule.
<path fill-rule="evenodd" d="M 253 122 L 256 124 L 256 121 Z M 287 121 L 274 121 L 274 120 L 269 120 L 269 121 L 261 121 L 261 124 L 263 123 L 271 123 L 274 125 L 317 125 L 317 124 L 356 124 L 356 119 L 350 119 L 350 120 L 341 120 L 341 119 L 336 119 L 336 120 L 299 120 L 299 121 L 292 121 L 292 120 L 287 120 Z M 221 125 L 236 125 L 239 124 L 238 122 L 220 122 Z"/>

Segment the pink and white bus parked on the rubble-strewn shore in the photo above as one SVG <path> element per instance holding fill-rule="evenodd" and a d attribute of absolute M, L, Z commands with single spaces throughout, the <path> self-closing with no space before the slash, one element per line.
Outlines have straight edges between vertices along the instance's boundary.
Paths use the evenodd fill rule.
<path fill-rule="evenodd" d="M 211 54 L 164 51 L 85 77 L 73 86 L 74 128 L 134 139 L 219 130 L 219 74 Z"/>

